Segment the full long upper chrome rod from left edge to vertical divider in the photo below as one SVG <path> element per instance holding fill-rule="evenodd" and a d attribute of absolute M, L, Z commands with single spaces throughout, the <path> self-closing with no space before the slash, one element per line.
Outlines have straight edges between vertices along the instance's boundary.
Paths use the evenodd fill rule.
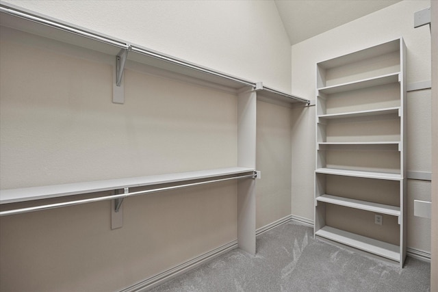
<path fill-rule="evenodd" d="M 94 32 L 86 31 L 85 29 L 79 29 L 79 28 L 73 27 L 71 25 L 66 25 L 64 23 L 53 21 L 53 20 L 48 19 L 48 18 L 43 18 L 41 16 L 37 16 L 35 14 L 30 14 L 28 12 L 24 12 L 24 11 L 15 9 L 15 8 L 8 8 L 8 7 L 5 7 L 3 5 L 0 6 L 0 11 L 7 13 L 7 14 L 10 14 L 10 15 L 13 15 L 13 16 L 27 19 L 28 21 L 33 21 L 35 23 L 40 23 L 42 25 L 47 25 L 49 27 L 53 27 L 55 29 L 67 31 L 71 34 L 77 34 L 77 35 L 83 36 L 85 38 L 90 38 L 92 40 L 104 42 L 106 44 L 111 44 L 111 45 L 118 47 L 118 48 L 122 48 L 122 49 L 126 49 L 126 50 L 133 51 L 136 53 L 140 53 L 142 55 L 147 55 L 149 57 L 154 57 L 155 59 L 161 59 L 162 61 L 170 62 L 172 64 L 177 64 L 179 66 L 183 66 L 185 68 L 190 68 L 192 70 L 203 72 L 203 73 L 206 73 L 209 75 L 214 75 L 216 77 L 222 77 L 224 79 L 229 79 L 229 80 L 235 81 L 237 83 L 242 83 L 242 85 L 246 85 L 246 86 L 250 86 L 250 87 L 255 88 L 254 82 L 240 79 L 238 77 L 233 77 L 231 75 L 227 75 L 227 74 L 222 73 L 222 72 L 211 70 L 211 69 L 205 68 L 203 66 L 191 64 L 191 63 L 185 62 L 181 59 L 177 59 L 175 57 L 170 57 L 168 55 L 164 55 L 164 54 L 161 54 L 161 53 L 149 50 L 149 49 L 137 47 L 136 45 L 128 44 L 127 42 L 113 40 L 112 38 L 109 38 L 107 36 L 102 36 L 102 35 L 96 34 Z"/>

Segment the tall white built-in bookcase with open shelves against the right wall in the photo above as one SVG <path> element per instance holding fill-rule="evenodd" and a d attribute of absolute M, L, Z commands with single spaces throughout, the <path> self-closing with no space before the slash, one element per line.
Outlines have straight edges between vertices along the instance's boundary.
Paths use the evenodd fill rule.
<path fill-rule="evenodd" d="M 317 64 L 315 236 L 406 256 L 402 38 Z M 383 224 L 374 224 L 374 215 Z M 391 218 L 395 218 L 391 219 Z"/>

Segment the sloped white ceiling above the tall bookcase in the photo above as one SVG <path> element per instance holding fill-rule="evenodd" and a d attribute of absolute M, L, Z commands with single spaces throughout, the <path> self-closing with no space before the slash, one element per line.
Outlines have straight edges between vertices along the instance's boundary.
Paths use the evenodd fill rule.
<path fill-rule="evenodd" d="M 400 0 L 274 0 L 291 44 L 376 12 Z"/>

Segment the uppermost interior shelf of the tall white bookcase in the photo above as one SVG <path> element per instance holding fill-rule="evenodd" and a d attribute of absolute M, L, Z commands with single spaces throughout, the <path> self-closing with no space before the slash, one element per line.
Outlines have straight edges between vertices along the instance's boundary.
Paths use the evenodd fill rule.
<path fill-rule="evenodd" d="M 348 83 L 342 83 L 339 85 L 326 86 L 324 88 L 318 88 L 319 92 L 324 94 L 333 94 L 338 92 L 345 92 L 350 90 L 359 90 L 361 88 L 370 88 L 373 86 L 384 85 L 388 83 L 398 82 L 398 75 L 400 72 L 395 72 L 387 75 L 382 75 L 378 77 L 362 79 L 359 81 L 353 81 Z"/>

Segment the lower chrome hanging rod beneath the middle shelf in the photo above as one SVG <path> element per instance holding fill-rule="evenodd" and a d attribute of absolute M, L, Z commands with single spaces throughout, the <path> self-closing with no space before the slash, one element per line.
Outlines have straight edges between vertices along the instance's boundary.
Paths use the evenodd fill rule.
<path fill-rule="evenodd" d="M 29 213 L 34 211 L 41 211 L 41 210 L 47 210 L 47 209 L 54 209 L 54 208 L 60 208 L 60 207 L 68 207 L 68 206 L 74 206 L 77 204 L 87 204 L 91 202 L 101 202 L 105 200 L 115 200 L 120 198 L 127 198 L 130 196 L 138 196 L 138 195 L 144 195 L 144 194 L 152 194 L 156 193 L 158 191 L 170 191 L 172 189 L 181 189 L 183 187 L 194 187 L 197 185 L 207 185 L 208 183 L 218 183 L 221 181 L 229 181 L 231 179 L 240 179 L 240 178 L 255 178 L 256 174 L 247 174 L 244 176 L 233 176 L 229 178 L 219 178 L 211 181 L 201 181 L 199 183 L 187 183 L 185 185 L 174 185 L 172 187 L 159 187 L 157 189 L 147 189 L 145 191 L 133 191 L 132 193 L 127 194 L 118 194 L 118 195 L 111 195 L 111 196 L 103 196 L 103 197 L 96 197 L 96 198 L 89 198 L 89 199 L 83 199 L 83 200 L 75 200 L 70 202 L 60 202 L 55 204 L 44 204 L 40 206 L 34 206 L 34 207 L 27 207 L 27 208 L 21 208 L 21 209 L 13 209 L 8 211 L 1 211 L 0 216 L 8 216 L 8 215 L 15 215 L 15 214 L 21 214 L 21 213 Z"/>

